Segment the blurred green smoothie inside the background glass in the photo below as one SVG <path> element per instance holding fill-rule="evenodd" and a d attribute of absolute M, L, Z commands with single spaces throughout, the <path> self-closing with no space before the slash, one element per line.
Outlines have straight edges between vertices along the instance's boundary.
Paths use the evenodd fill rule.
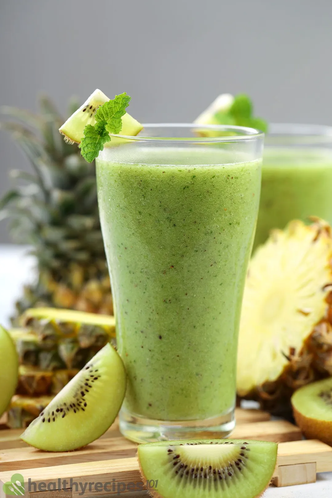
<path fill-rule="evenodd" d="M 332 151 L 266 147 L 254 248 L 271 229 L 309 216 L 332 223 Z"/>

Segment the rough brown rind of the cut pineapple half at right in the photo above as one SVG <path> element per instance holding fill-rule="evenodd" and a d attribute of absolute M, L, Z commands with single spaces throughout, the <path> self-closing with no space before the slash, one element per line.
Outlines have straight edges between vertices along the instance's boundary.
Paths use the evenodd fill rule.
<path fill-rule="evenodd" d="M 262 382 L 245 394 L 241 392 L 239 395 L 239 398 L 258 401 L 262 409 L 274 415 L 290 419 L 290 399 L 294 391 L 332 375 L 332 228 L 324 220 L 312 217 L 312 221 L 310 229 L 315 233 L 315 237 L 324 237 L 329 246 L 326 264 L 331 278 L 326 282 L 327 292 L 322 317 L 308 334 L 300 350 L 296 351 L 290 347 L 289 351 L 283 353 L 287 363 L 278 378 Z M 293 223 L 295 228 L 296 223 L 302 224 L 299 221 Z"/>

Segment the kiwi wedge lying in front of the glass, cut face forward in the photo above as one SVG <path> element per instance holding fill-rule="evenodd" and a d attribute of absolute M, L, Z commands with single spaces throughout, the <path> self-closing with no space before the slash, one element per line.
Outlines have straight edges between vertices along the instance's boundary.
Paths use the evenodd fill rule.
<path fill-rule="evenodd" d="M 141 444 L 138 460 L 155 497 L 254 498 L 270 483 L 277 444 L 239 439 L 163 441 Z"/>

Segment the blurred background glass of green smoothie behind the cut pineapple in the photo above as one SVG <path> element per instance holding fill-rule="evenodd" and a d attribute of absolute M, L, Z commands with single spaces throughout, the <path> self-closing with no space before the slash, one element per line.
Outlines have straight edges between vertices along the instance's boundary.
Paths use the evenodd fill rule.
<path fill-rule="evenodd" d="M 309 216 L 332 223 L 332 127 L 272 124 L 265 138 L 254 249 L 271 229 Z"/>

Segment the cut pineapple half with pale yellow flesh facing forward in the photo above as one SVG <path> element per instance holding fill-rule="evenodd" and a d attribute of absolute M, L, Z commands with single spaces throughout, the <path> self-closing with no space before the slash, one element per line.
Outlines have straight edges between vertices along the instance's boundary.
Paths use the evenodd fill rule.
<path fill-rule="evenodd" d="M 296 388 L 332 375 L 332 228 L 311 221 L 272 231 L 245 282 L 237 394 L 275 413 Z"/>

